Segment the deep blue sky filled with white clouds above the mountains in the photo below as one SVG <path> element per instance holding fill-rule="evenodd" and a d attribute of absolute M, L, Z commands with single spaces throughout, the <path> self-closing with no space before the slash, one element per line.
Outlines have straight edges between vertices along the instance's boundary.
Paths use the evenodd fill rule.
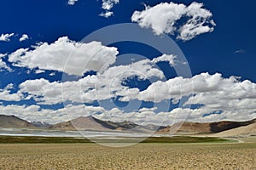
<path fill-rule="evenodd" d="M 256 117 L 256 105 L 254 105 L 256 96 L 256 92 L 254 92 L 256 91 L 254 84 L 256 82 L 256 77 L 254 76 L 256 72 L 256 67 L 254 66 L 256 62 L 254 50 L 256 34 L 254 31 L 256 30 L 256 24 L 253 22 L 255 2 L 212 0 L 196 2 L 120 1 L 116 4 L 111 0 L 106 2 L 108 5 L 113 5 L 113 7 L 104 9 L 102 1 L 95 0 L 79 0 L 74 2 L 73 5 L 68 4 L 67 0 L 9 0 L 1 2 L 0 114 L 16 115 L 30 121 L 43 120 L 51 123 L 67 121 L 68 117 L 86 116 L 95 113 L 102 119 L 112 117 L 113 120 L 123 121 L 124 117 L 126 117 L 138 123 L 145 122 L 142 117 L 149 117 L 148 122 L 161 123 L 164 119 L 163 117 L 171 117 L 170 120 L 172 120 L 173 115 L 176 113 L 181 116 L 177 116 L 177 121 L 182 121 L 183 116 L 186 116 L 188 120 L 195 122 L 248 120 Z M 164 10 L 164 3 L 167 10 Z M 183 8 L 177 8 L 175 4 L 181 3 L 183 3 Z M 209 26 L 204 28 L 212 29 L 212 31 L 197 30 L 196 35 L 189 37 L 189 40 L 185 39 L 186 37 L 178 39 L 178 35 L 185 32 L 179 29 L 184 29 L 182 27 L 184 23 L 188 24 L 189 19 L 195 16 L 195 11 L 189 9 L 192 3 L 202 3 L 203 5 L 200 9 L 203 12 L 200 15 L 201 20 L 195 18 L 191 22 L 195 23 L 196 21 L 197 26 L 200 26 L 202 20 L 205 20 L 202 26 Z M 145 6 L 148 6 L 148 8 L 145 8 Z M 156 8 L 160 8 L 160 10 L 155 12 L 154 9 Z M 165 14 L 165 11 L 168 12 L 174 10 L 174 8 L 177 8 L 178 12 Z M 137 17 L 140 19 L 134 18 L 132 21 L 132 16 L 135 17 L 136 15 L 135 11 L 139 12 Z M 145 15 L 141 13 L 143 11 Z M 113 12 L 111 16 L 100 16 L 100 14 L 110 12 Z M 174 29 L 176 29 L 173 34 L 168 32 L 170 31 L 170 27 L 168 27 L 169 30 L 160 31 L 158 35 L 154 26 L 158 25 L 160 30 L 162 28 L 165 29 L 165 21 L 159 24 L 159 20 L 155 20 L 155 14 L 159 16 L 159 20 L 166 18 L 166 20 L 168 19 L 169 21 L 171 20 L 170 22 L 173 22 Z M 170 19 L 178 17 L 179 14 L 184 16 L 182 20 Z M 204 18 L 207 14 L 209 16 Z M 212 24 L 211 20 L 215 24 Z M 167 54 L 169 60 L 161 58 L 160 61 L 154 62 L 152 59 L 160 57 L 162 54 L 143 44 L 129 42 L 113 43 L 108 45 L 108 47 L 104 47 L 104 44 L 101 44 L 101 42 L 90 44 L 90 48 L 104 48 L 103 51 L 105 53 L 99 56 L 96 64 L 91 63 L 88 70 L 90 72 L 84 72 L 84 75 L 75 75 L 73 74 L 76 73 L 75 71 L 63 71 L 61 70 L 61 64 L 48 64 L 48 62 L 59 62 L 57 59 L 61 59 L 62 55 L 69 53 L 69 48 L 63 49 L 66 45 L 70 49 L 81 50 L 81 53 L 87 53 L 90 50 L 87 46 L 84 46 L 84 49 L 79 49 L 73 44 L 75 42 L 79 43 L 93 31 L 120 23 L 135 23 L 137 26 L 147 27 L 154 36 L 165 34 L 171 37 L 183 51 L 192 77 L 188 79 L 179 77 L 177 79 L 173 65 L 168 64 L 170 59 L 175 60 L 172 54 Z M 11 35 L 12 33 L 13 35 Z M 125 34 L 125 31 L 123 33 Z M 7 34 L 9 38 L 6 39 L 6 36 L 8 37 Z M 24 34 L 27 35 L 27 38 L 24 37 L 25 40 L 20 41 L 20 37 Z M 47 43 L 48 46 L 45 45 L 47 47 L 43 47 L 43 43 Z M 51 46 L 51 44 L 59 44 L 60 46 Z M 36 46 L 36 48 L 32 48 L 32 46 Z M 11 54 L 14 54 L 21 48 L 28 48 L 24 52 L 26 59 L 21 59 L 22 54 L 11 56 Z M 44 55 L 39 56 L 36 53 L 39 51 L 44 54 L 46 53 L 44 50 L 49 53 L 49 56 L 45 59 Z M 55 56 L 55 50 L 57 55 L 60 56 Z M 58 50 L 61 52 L 59 51 L 58 53 Z M 131 53 L 142 55 L 143 58 L 126 56 L 126 58 L 128 57 L 127 62 L 125 61 L 126 64 L 123 64 L 123 67 L 117 68 L 118 62 L 124 60 L 120 56 Z M 143 64 L 132 60 L 134 58 L 149 60 Z M 67 58 L 63 58 L 60 61 L 64 62 L 65 59 Z M 69 59 L 71 63 L 75 60 L 72 57 Z M 99 65 L 102 66 L 106 63 L 107 60 L 104 59 L 115 60 L 104 70 L 105 73 L 100 75 L 108 77 L 108 81 L 111 81 L 108 82 L 106 79 L 103 82 L 95 82 L 92 88 L 90 87 L 89 89 L 86 87 L 86 83 L 89 83 L 95 78 L 94 76 L 100 74 L 97 68 Z M 136 63 L 136 65 L 131 63 Z M 130 76 L 122 75 L 120 76 L 121 79 L 118 79 L 123 85 L 126 83 L 125 86 L 114 84 L 117 78 L 111 77 L 113 73 L 110 68 L 113 68 L 113 72 L 116 72 L 124 71 L 128 67 L 130 70 L 141 71 L 141 75 L 145 74 L 149 79 L 154 79 L 154 81 L 150 83 L 147 81 L 148 79 L 138 78 L 140 75 L 131 74 Z M 145 67 L 145 71 L 143 68 L 137 69 L 137 67 Z M 158 68 L 158 71 L 154 70 L 154 68 Z M 161 77 L 161 71 L 166 80 L 163 80 Z M 151 75 L 151 73 L 156 76 Z M 71 84 L 63 85 L 63 74 L 64 77 L 73 74 L 75 76 L 73 84 L 70 82 Z M 160 81 L 160 83 L 155 84 L 154 82 L 157 81 Z M 184 89 L 179 89 L 183 94 L 182 96 L 175 94 L 176 81 L 183 83 Z M 81 88 L 82 91 L 84 90 L 84 94 L 81 94 L 83 102 L 80 102 L 79 99 L 67 99 L 67 101 L 64 101 L 64 108 L 66 110 L 63 109 L 61 87 L 63 88 L 64 86 L 64 89 L 68 91 L 67 95 L 69 97 L 72 96 L 69 93 L 73 90 L 69 87 L 78 86 L 78 83 L 85 83 L 86 89 Z M 106 90 L 96 88 L 100 83 L 102 83 L 102 86 L 111 85 L 111 87 L 116 88 L 111 91 L 112 94 L 116 94 L 110 97 L 106 97 L 108 96 L 107 94 L 103 97 L 100 96 L 99 94 L 103 95 L 104 90 Z M 186 89 L 189 83 L 195 87 L 193 92 L 189 92 L 189 89 Z M 170 85 L 171 88 L 174 88 L 171 89 Z M 127 89 L 123 89 L 124 87 Z M 150 96 L 150 90 L 153 88 L 157 95 L 153 94 L 152 97 Z M 94 96 L 91 96 L 93 93 L 87 94 L 88 91 L 96 92 L 95 95 L 100 97 L 92 99 L 94 98 Z M 230 96 L 227 94 L 230 94 Z M 191 109 L 177 108 L 178 103 L 174 102 L 174 100 L 181 101 L 180 99 L 183 98 L 188 99 L 187 104 L 192 105 Z M 122 101 L 119 101 L 119 99 Z M 113 106 L 109 107 L 108 102 L 112 100 L 114 100 Z M 106 101 L 107 104 L 104 103 Z M 133 107 L 134 111 L 132 111 Z M 163 107 L 165 109 L 160 109 Z M 75 113 L 70 114 L 69 111 L 74 111 Z M 216 112 L 218 114 L 214 114 Z"/>

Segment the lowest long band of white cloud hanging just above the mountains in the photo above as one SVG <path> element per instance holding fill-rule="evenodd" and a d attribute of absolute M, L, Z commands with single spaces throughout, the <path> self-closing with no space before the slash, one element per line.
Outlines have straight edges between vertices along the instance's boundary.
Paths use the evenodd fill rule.
<path fill-rule="evenodd" d="M 95 116 L 96 118 L 123 122 L 130 121 L 141 125 L 172 125 L 184 121 L 184 115 L 189 113 L 188 122 L 216 122 L 222 120 L 247 121 L 256 117 L 250 110 L 223 111 L 220 114 L 204 116 L 214 110 L 207 108 L 182 109 L 177 108 L 170 112 L 156 113 L 154 108 L 142 108 L 140 111 L 124 112 L 118 108 L 108 111 L 101 106 L 67 105 L 66 108 L 57 110 L 42 109 L 39 105 L 0 105 L 0 112 L 4 115 L 15 115 L 28 121 L 43 121 L 49 123 L 67 122 L 79 116 Z"/>

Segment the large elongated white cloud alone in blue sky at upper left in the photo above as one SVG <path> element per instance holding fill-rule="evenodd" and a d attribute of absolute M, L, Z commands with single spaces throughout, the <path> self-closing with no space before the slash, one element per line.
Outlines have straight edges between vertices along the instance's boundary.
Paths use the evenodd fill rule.
<path fill-rule="evenodd" d="M 83 76 L 86 71 L 108 68 L 119 53 L 117 48 L 102 46 L 101 42 L 74 42 L 68 37 L 60 37 L 50 44 L 41 42 L 32 48 L 17 49 L 9 54 L 9 62 L 29 69 L 63 71 L 70 75 Z"/>

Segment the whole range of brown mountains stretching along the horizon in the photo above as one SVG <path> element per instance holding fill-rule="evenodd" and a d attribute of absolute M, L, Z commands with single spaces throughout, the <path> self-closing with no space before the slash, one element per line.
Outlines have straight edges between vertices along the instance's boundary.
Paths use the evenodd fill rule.
<path fill-rule="evenodd" d="M 51 130 L 92 130 L 92 131 L 123 131 L 133 130 L 137 132 L 154 132 L 170 133 L 177 131 L 176 134 L 200 134 L 214 133 L 217 136 L 234 136 L 234 135 L 256 135 L 256 119 L 246 122 L 179 122 L 172 126 L 139 126 L 133 122 L 110 122 L 102 121 L 94 116 L 80 116 L 68 122 L 56 123 L 49 125 L 45 122 L 27 122 L 17 116 L 0 115 L 0 127 L 15 128 L 45 128 Z"/>

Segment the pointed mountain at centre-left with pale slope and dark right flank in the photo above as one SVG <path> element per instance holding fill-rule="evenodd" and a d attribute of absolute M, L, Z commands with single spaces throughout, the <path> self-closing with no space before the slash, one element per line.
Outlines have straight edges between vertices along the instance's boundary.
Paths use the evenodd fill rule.
<path fill-rule="evenodd" d="M 111 131 L 111 130 L 126 130 L 138 125 L 132 122 L 110 122 L 96 119 L 93 116 L 80 116 L 68 122 L 61 122 L 50 126 L 50 129 L 57 130 L 96 130 L 96 131 Z"/>

